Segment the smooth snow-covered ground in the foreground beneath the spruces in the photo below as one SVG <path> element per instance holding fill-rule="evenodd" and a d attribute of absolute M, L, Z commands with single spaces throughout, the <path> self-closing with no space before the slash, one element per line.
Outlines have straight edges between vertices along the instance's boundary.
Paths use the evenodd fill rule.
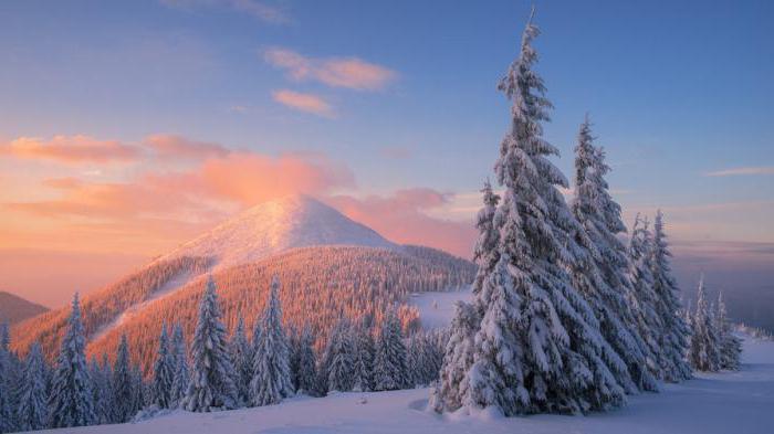
<path fill-rule="evenodd" d="M 626 407 L 589 416 L 496 419 L 440 416 L 425 410 L 427 389 L 296 398 L 280 405 L 222 413 L 177 411 L 148 421 L 57 432 L 87 433 L 602 433 L 764 434 L 774 432 L 774 342 L 745 339 L 740 372 L 700 374 Z"/>

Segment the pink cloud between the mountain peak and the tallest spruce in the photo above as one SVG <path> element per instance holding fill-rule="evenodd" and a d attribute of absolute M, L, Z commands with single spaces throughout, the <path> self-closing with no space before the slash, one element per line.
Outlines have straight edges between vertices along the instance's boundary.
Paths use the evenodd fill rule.
<path fill-rule="evenodd" d="M 453 194 L 415 188 L 364 199 L 335 195 L 327 201 L 348 218 L 391 241 L 428 245 L 461 257 L 470 257 L 475 240 L 472 214 L 468 221 L 428 215 L 428 212 L 443 207 L 452 199 Z"/>

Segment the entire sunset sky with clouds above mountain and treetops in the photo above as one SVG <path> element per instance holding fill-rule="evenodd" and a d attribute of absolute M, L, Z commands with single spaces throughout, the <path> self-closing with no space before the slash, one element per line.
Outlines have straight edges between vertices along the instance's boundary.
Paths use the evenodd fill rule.
<path fill-rule="evenodd" d="M 545 137 L 585 114 L 679 272 L 774 269 L 774 3 L 536 1 Z M 315 195 L 469 257 L 526 1 L 0 2 L 0 290 L 48 306 Z M 742 282 L 743 280 L 743 282 Z"/>

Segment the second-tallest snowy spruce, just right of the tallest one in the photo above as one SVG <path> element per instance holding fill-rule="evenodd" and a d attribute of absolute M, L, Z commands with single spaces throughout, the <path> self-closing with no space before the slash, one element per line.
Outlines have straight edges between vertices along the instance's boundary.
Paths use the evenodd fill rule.
<path fill-rule="evenodd" d="M 587 263 L 586 269 L 576 267 L 574 280 L 594 308 L 603 336 L 626 363 L 625 371 L 611 369 L 618 383 L 629 393 L 655 391 L 658 384 L 647 366 L 648 347 L 637 328 L 636 307 L 629 303 L 632 293 L 627 275 L 629 261 L 618 236 L 626 232 L 626 225 L 620 205 L 608 191 L 605 176 L 609 171 L 604 149 L 594 146 L 587 116 L 575 147 L 573 213 L 588 235 L 592 256 L 586 258 L 593 264 Z"/>

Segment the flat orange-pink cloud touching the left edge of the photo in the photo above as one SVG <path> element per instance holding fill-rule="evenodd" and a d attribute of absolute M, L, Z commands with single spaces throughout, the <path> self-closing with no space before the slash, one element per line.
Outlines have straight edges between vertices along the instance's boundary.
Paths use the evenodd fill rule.
<path fill-rule="evenodd" d="M 54 136 L 51 140 L 19 137 L 0 145 L 0 156 L 19 159 L 44 159 L 57 162 L 108 163 L 136 161 L 142 150 L 115 140 L 97 140 L 88 136 Z"/>

